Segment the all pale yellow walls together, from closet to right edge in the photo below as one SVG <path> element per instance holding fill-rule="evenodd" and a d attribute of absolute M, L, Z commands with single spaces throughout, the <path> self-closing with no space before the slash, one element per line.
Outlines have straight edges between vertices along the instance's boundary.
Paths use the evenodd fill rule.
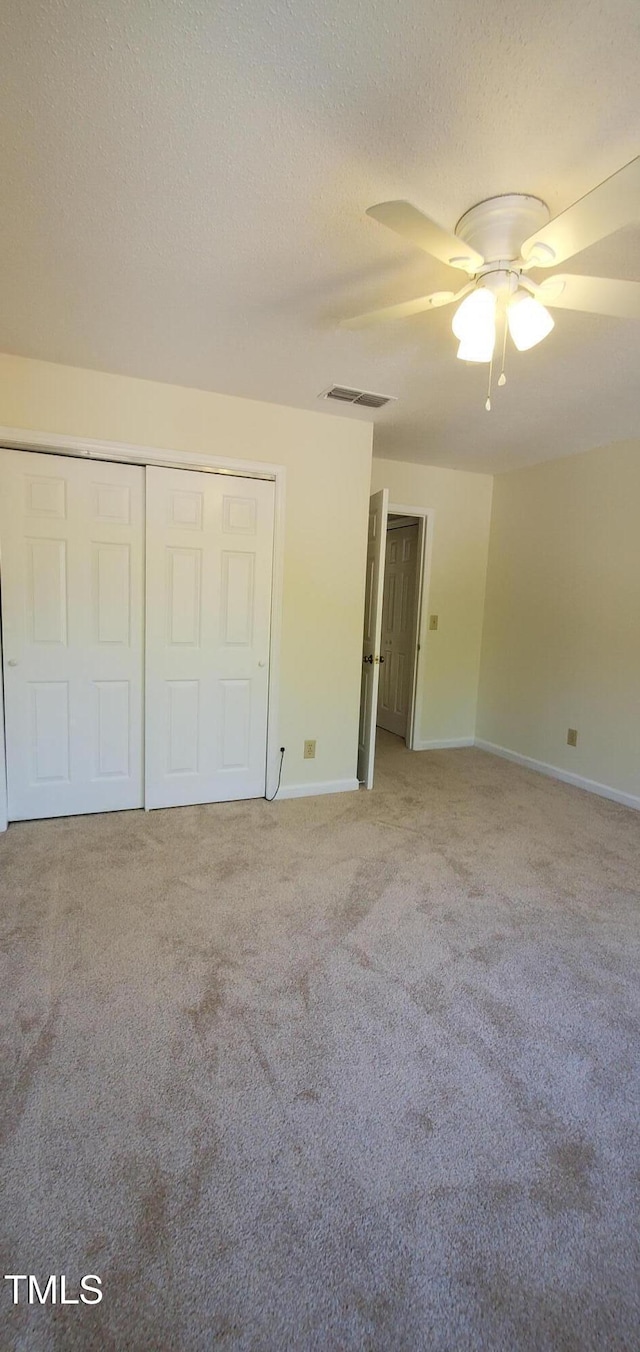
<path fill-rule="evenodd" d="M 355 779 L 367 504 L 386 487 L 434 514 L 421 744 L 475 733 L 640 798 L 640 442 L 494 481 L 371 462 L 350 418 L 9 356 L 0 425 L 285 465 L 285 786 Z"/>

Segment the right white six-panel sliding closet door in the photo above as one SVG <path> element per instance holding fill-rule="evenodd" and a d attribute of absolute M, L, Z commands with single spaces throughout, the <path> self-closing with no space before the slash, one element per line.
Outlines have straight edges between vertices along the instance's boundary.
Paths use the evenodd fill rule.
<path fill-rule="evenodd" d="M 264 795 L 273 495 L 146 470 L 146 807 Z"/>

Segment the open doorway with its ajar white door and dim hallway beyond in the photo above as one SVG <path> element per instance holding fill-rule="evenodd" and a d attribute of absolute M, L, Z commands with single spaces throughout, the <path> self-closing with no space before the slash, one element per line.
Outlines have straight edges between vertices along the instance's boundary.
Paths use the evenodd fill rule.
<path fill-rule="evenodd" d="M 432 512 L 396 506 L 388 491 L 369 504 L 360 699 L 359 780 L 373 787 L 376 730 L 419 742 Z"/>

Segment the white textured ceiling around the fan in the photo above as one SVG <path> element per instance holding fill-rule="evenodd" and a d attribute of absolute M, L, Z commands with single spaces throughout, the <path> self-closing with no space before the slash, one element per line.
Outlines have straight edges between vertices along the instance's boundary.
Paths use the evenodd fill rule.
<path fill-rule="evenodd" d="M 376 452 L 437 465 L 637 435 L 637 323 L 556 311 L 486 414 L 451 312 L 337 319 L 455 277 L 371 203 L 556 214 L 632 160 L 639 53 L 637 0 L 4 0 L 0 347 L 303 408 L 392 393 Z M 637 277 L 639 245 L 570 266 Z"/>

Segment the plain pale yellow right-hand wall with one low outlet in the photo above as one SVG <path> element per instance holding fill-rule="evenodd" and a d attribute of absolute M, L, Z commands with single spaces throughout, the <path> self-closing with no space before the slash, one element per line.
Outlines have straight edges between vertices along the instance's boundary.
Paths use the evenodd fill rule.
<path fill-rule="evenodd" d="M 640 441 L 495 480 L 476 734 L 640 795 Z"/>

